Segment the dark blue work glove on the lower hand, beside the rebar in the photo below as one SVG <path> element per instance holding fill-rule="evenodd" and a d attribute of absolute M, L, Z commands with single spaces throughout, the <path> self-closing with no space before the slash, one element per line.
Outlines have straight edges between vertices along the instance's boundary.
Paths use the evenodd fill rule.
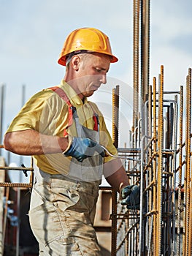
<path fill-rule="evenodd" d="M 120 203 L 131 210 L 139 210 L 140 206 L 140 187 L 128 185 L 121 190 L 122 200 Z"/>

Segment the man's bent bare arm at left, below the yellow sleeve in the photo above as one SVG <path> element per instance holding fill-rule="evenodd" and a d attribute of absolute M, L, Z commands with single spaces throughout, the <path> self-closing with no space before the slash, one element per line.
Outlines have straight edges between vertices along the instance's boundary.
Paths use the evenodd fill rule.
<path fill-rule="evenodd" d="M 4 135 L 4 148 L 21 155 L 61 153 L 68 145 L 68 138 L 42 135 L 33 129 L 7 132 Z"/>

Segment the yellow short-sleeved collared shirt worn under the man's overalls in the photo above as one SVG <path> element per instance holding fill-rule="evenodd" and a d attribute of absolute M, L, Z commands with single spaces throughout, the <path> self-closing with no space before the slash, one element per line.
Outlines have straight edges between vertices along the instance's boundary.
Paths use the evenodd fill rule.
<path fill-rule="evenodd" d="M 59 87 L 65 91 L 71 104 L 77 109 L 80 124 L 89 129 L 93 129 L 93 111 L 99 116 L 100 144 L 106 147 L 111 154 L 117 154 L 104 118 L 96 104 L 88 102 L 87 99 L 82 102 L 72 87 L 64 82 L 64 80 L 62 80 Z M 74 122 L 72 122 L 71 127 L 68 127 L 68 124 L 68 105 L 64 102 L 64 99 L 61 99 L 53 90 L 45 89 L 34 94 L 34 96 L 26 102 L 26 105 L 23 106 L 9 125 L 7 132 L 34 129 L 41 134 L 62 137 L 64 136 L 64 129 L 66 129 L 70 135 L 77 136 Z M 34 155 L 33 157 L 36 165 L 46 173 L 64 173 L 64 175 L 67 175 L 67 173 L 69 173 L 71 157 L 64 157 L 61 153 Z M 111 159 L 112 157 L 105 157 L 104 162 L 108 162 Z"/>

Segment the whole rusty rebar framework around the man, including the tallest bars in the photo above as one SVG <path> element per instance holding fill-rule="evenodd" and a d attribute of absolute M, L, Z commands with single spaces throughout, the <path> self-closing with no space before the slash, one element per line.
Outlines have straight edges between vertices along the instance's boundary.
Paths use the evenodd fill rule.
<path fill-rule="evenodd" d="M 140 185 L 140 208 L 127 210 L 126 206 L 120 205 L 116 192 L 110 187 L 100 187 L 101 191 L 110 191 L 112 197 L 111 255 L 190 256 L 191 68 L 186 67 L 186 84 L 178 91 L 166 91 L 164 66 L 159 67 L 159 74 L 153 78 L 153 84 L 149 84 L 150 0 L 134 0 L 133 4 L 134 106 L 133 124 L 128 134 L 131 147 L 118 147 L 120 85 L 112 91 L 112 138 L 130 184 Z M 3 255 L 9 187 L 31 189 L 33 162 L 30 167 L 14 168 L 1 164 L 0 168 L 5 172 L 20 170 L 31 173 L 28 184 L 0 183 L 1 189 L 5 187 L 1 193 L 6 198 L 4 229 L 1 230 L 0 255 Z"/>

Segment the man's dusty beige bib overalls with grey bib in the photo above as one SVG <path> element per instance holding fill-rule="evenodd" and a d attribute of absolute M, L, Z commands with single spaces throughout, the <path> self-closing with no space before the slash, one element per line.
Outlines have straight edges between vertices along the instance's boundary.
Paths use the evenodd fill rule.
<path fill-rule="evenodd" d="M 99 129 L 82 127 L 75 111 L 73 118 L 79 137 L 99 142 Z M 93 220 L 102 161 L 98 153 L 82 163 L 72 158 L 68 176 L 36 168 L 28 215 L 39 255 L 101 256 Z"/>

